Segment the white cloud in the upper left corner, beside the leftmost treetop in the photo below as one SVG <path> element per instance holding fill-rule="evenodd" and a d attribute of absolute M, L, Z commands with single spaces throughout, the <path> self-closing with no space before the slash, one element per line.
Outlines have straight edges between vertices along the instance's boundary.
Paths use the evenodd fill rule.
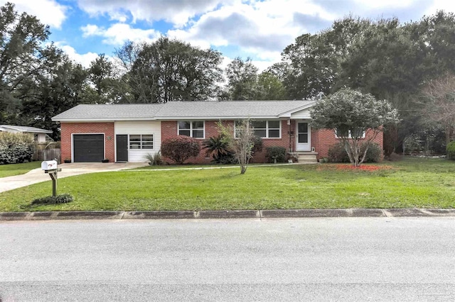
<path fill-rule="evenodd" d="M 36 16 L 41 23 L 50 27 L 60 28 L 65 21 L 65 12 L 68 7 L 58 4 L 55 0 L 0 0 L 3 6 L 6 2 L 14 3 L 16 11 L 26 12 Z"/>

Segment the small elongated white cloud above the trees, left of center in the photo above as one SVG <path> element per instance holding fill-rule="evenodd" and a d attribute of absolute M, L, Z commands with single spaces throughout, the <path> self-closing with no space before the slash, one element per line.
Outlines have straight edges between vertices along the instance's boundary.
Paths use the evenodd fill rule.
<path fill-rule="evenodd" d="M 127 40 L 132 40 L 134 42 L 151 42 L 160 36 L 160 33 L 154 29 L 132 28 L 124 23 L 116 23 L 107 29 L 89 24 L 80 29 L 85 38 L 100 36 L 103 38 L 102 43 L 117 46 L 124 44 Z"/>

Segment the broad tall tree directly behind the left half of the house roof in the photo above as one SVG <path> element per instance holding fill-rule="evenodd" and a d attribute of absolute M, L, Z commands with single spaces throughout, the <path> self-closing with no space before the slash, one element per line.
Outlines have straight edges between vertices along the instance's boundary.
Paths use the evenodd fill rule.
<path fill-rule="evenodd" d="M 221 54 L 161 37 L 151 44 L 126 43 L 117 50 L 123 100 L 137 103 L 208 100 L 221 79 Z"/>

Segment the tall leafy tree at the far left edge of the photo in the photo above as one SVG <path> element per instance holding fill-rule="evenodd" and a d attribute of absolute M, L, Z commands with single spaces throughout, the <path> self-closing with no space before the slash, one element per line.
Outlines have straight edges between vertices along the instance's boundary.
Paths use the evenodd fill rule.
<path fill-rule="evenodd" d="M 0 7 L 0 122 L 16 123 L 23 99 L 47 67 L 53 45 L 43 46 L 50 34 L 34 16 L 20 15 L 14 4 Z"/>

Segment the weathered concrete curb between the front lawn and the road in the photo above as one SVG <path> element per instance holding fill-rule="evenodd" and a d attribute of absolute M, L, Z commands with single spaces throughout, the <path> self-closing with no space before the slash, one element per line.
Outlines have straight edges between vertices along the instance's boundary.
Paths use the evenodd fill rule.
<path fill-rule="evenodd" d="M 219 219 L 219 218 L 337 218 L 337 217 L 455 217 L 454 208 L 335 208 L 238 211 L 70 211 L 4 212 L 1 220 L 77 219 Z"/>

